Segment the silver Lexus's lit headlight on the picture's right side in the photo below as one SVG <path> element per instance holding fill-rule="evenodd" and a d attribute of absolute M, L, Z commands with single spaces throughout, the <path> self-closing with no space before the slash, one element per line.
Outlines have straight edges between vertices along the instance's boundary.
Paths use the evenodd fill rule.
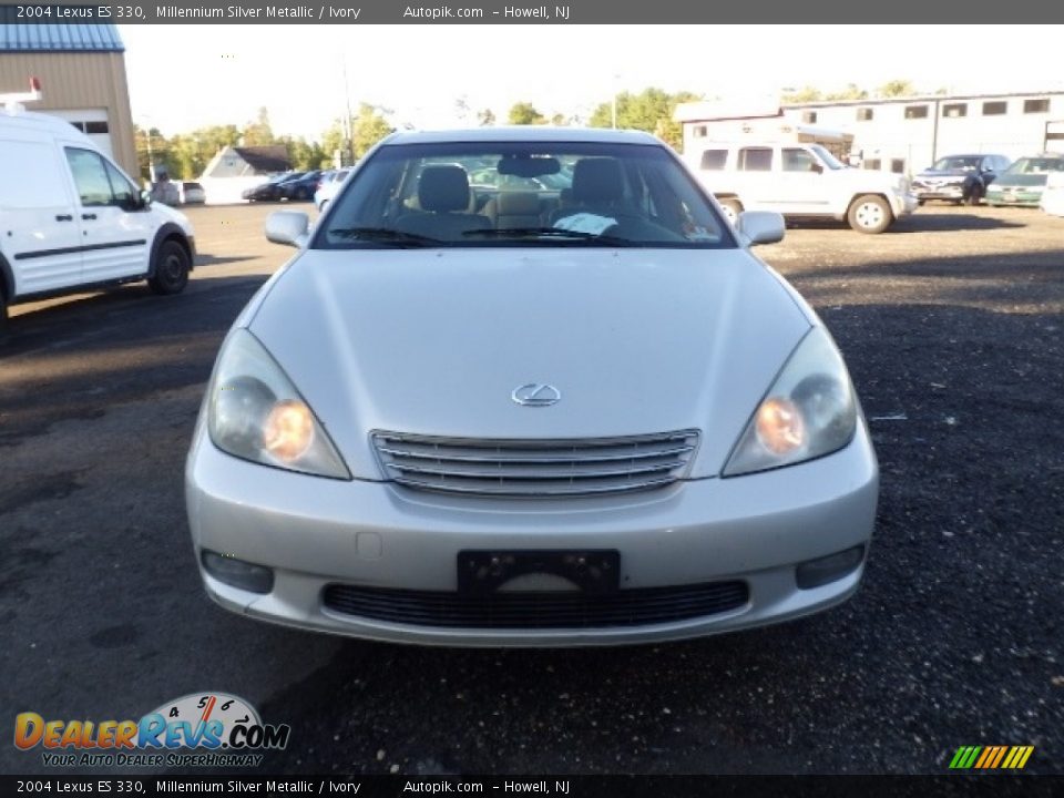
<path fill-rule="evenodd" d="M 725 477 L 792 466 L 845 447 L 857 428 L 857 402 L 842 356 L 816 327 L 791 352 L 784 370 L 746 426 Z"/>

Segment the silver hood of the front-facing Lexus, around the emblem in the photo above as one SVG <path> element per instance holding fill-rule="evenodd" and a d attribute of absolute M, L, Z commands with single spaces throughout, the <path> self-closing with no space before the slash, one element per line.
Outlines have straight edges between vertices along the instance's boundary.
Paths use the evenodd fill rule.
<path fill-rule="evenodd" d="M 745 249 L 306 250 L 249 329 L 356 477 L 372 430 L 598 438 L 702 430 L 715 475 L 815 320 Z M 511 395 L 561 391 L 552 407 Z"/>

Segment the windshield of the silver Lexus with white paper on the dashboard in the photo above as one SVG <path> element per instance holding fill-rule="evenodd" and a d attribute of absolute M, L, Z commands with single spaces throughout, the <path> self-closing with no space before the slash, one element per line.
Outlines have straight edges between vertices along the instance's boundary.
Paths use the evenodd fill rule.
<path fill-rule="evenodd" d="M 732 247 L 730 227 L 653 144 L 383 145 L 360 166 L 314 248 Z"/>

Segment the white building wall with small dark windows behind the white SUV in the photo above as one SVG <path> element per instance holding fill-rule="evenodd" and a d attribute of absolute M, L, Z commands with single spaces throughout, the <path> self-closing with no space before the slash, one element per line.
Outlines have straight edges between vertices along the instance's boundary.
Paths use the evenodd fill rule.
<path fill-rule="evenodd" d="M 1027 100 L 1047 100 L 1048 110 L 1025 113 L 1024 102 Z M 984 104 L 995 102 L 1005 103 L 1005 113 L 985 114 Z M 947 106 L 955 104 L 965 105 L 966 114 L 949 115 Z M 912 117 L 910 114 L 907 117 L 906 111 L 910 106 L 925 106 L 927 116 Z M 871 119 L 860 119 L 862 110 L 870 111 Z M 815 114 L 815 117 L 810 114 Z M 954 153 L 1001 153 L 1017 158 L 1040 152 L 1046 122 L 1054 120 L 1064 120 L 1064 92 L 923 98 L 845 105 L 787 105 L 782 109 L 782 119 L 775 121 L 852 133 L 852 150 L 863 156 L 866 167 L 876 166 L 878 162 L 882 171 L 900 171 L 911 175 L 930 166 L 934 157 Z M 696 137 L 698 126 L 706 127 L 708 139 Z M 736 126 L 736 120 L 685 121 L 685 150 L 703 145 L 714 137 L 735 140 L 738 137 L 735 135 Z"/>

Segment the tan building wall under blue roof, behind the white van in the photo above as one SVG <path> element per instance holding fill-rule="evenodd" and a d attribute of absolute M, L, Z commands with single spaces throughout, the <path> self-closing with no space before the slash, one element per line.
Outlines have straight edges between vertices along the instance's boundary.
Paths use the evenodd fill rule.
<path fill-rule="evenodd" d="M 42 99 L 28 111 L 105 111 L 114 160 L 140 182 L 122 53 L 6 52 L 0 58 L 0 93 L 27 91 L 31 76 L 40 78 Z"/>

